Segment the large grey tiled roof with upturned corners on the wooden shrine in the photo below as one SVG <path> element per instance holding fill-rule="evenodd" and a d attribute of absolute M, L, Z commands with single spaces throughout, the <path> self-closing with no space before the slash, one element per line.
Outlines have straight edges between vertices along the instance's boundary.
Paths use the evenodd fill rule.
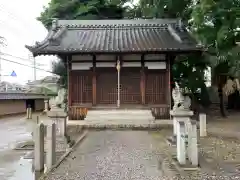
<path fill-rule="evenodd" d="M 27 46 L 34 55 L 199 51 L 177 20 L 59 20 L 47 38 Z"/>

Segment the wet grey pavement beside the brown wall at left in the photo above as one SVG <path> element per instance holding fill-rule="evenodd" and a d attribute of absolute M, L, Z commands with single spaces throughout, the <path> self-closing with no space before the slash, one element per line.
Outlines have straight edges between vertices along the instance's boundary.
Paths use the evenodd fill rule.
<path fill-rule="evenodd" d="M 24 116 L 12 116 L 0 119 L 0 179 L 15 180 L 23 177 L 33 179 L 32 164 L 21 157 L 26 151 L 14 151 L 18 142 L 30 140 L 31 132 Z M 20 178 L 21 179 L 21 178 Z"/>

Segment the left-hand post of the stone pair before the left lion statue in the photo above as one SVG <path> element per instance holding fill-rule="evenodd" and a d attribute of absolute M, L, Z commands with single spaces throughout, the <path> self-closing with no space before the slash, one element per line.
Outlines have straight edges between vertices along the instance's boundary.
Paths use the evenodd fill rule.
<path fill-rule="evenodd" d="M 35 171 L 44 170 L 44 125 L 38 124 L 34 139 L 34 168 Z"/>

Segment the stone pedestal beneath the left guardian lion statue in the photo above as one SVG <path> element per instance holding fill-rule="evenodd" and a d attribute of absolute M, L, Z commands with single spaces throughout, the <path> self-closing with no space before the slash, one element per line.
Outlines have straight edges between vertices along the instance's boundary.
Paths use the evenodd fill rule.
<path fill-rule="evenodd" d="M 56 124 L 58 130 L 57 134 L 64 137 L 67 129 L 67 113 L 61 108 L 52 107 L 47 115 L 52 119 L 53 123 Z"/>

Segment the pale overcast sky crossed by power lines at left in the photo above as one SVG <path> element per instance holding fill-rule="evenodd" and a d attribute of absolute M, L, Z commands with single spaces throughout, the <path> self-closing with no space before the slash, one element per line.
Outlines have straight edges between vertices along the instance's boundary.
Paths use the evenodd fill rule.
<path fill-rule="evenodd" d="M 47 35 L 47 30 L 36 20 L 50 0 L 1 0 L 0 1 L 0 36 L 6 39 L 6 46 L 0 47 L 1 52 L 24 59 L 29 58 L 30 52 L 25 45 L 33 45 L 36 41 L 43 40 Z M 32 66 L 30 61 L 1 55 L 1 69 L 3 76 L 1 80 L 9 82 L 26 83 L 33 80 L 33 68 L 7 62 L 4 59 L 19 62 Z M 36 57 L 36 62 L 44 66 L 38 66 L 41 69 L 51 71 L 51 60 L 54 57 Z M 15 71 L 17 77 L 7 77 L 12 71 Z M 37 70 L 37 79 L 51 75 L 50 73 Z"/>

